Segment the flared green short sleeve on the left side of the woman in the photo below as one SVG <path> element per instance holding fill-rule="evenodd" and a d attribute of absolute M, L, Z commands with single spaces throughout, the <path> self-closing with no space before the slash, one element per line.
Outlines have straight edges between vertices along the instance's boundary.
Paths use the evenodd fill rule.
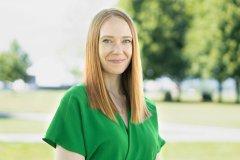
<path fill-rule="evenodd" d="M 78 99 L 66 92 L 44 135 L 43 141 L 56 148 L 56 145 L 86 155 L 82 116 Z"/>

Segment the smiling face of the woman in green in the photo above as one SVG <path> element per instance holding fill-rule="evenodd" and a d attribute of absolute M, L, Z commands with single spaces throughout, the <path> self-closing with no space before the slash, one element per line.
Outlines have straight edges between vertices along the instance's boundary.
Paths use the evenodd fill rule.
<path fill-rule="evenodd" d="M 104 72 L 122 74 L 128 67 L 132 57 L 132 34 L 124 19 L 111 17 L 102 24 L 99 57 Z"/>

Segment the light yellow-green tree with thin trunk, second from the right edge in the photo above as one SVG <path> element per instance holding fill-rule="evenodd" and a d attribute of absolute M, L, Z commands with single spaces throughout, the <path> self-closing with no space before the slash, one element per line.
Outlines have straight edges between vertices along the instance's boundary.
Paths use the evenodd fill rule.
<path fill-rule="evenodd" d="M 229 77 L 227 64 L 219 52 L 221 34 L 220 0 L 187 1 L 187 12 L 193 16 L 191 28 L 187 33 L 184 53 L 191 62 L 188 73 L 194 78 L 215 78 L 218 83 L 219 102 L 222 101 L 222 82 Z M 202 91 L 204 93 L 208 91 Z"/>

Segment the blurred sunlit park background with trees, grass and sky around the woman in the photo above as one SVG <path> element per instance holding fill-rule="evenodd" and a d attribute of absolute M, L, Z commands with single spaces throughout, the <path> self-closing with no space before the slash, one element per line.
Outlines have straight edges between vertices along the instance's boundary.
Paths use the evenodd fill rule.
<path fill-rule="evenodd" d="M 239 160 L 240 0 L 0 0 L 0 159 L 53 159 L 41 137 L 110 7 L 137 27 L 161 160 Z"/>

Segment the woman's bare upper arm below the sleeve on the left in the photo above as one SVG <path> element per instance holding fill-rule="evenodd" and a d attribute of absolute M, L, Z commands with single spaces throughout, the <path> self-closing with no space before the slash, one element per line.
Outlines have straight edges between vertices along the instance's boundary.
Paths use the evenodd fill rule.
<path fill-rule="evenodd" d="M 84 156 L 68 151 L 63 147 L 57 145 L 56 147 L 56 160 L 85 160 Z"/>

